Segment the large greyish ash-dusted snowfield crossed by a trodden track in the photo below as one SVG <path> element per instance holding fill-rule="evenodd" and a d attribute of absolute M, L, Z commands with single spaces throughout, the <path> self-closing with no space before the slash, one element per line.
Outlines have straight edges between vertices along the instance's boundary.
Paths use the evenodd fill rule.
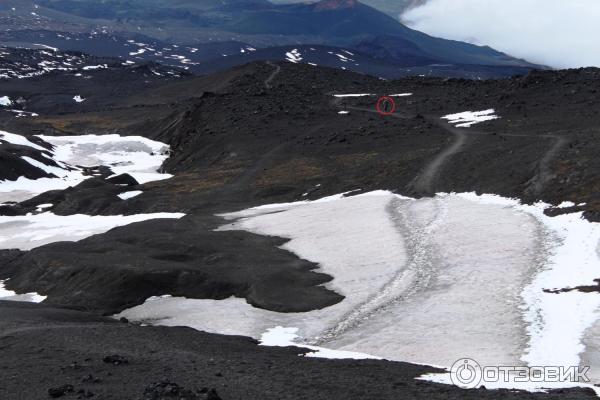
<path fill-rule="evenodd" d="M 289 238 L 282 248 L 319 263 L 334 278 L 325 286 L 345 299 L 277 313 L 238 298 L 163 297 L 118 317 L 446 367 L 470 357 L 481 365 L 585 361 L 598 370 L 600 354 L 590 352 L 600 349 L 600 298 L 544 289 L 594 284 L 600 224 L 580 213 L 548 217 L 547 207 L 471 193 L 412 199 L 379 191 L 226 214 L 232 222 L 222 230 Z"/>

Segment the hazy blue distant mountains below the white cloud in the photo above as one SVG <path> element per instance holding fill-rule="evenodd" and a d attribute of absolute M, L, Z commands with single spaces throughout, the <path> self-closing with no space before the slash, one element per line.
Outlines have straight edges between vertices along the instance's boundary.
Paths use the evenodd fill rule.
<path fill-rule="evenodd" d="M 234 61 L 285 59 L 285 53 L 299 45 L 356 51 L 369 61 L 355 70 L 387 78 L 406 72 L 497 77 L 538 67 L 489 47 L 415 31 L 358 0 L 286 5 L 266 0 L 23 0 L 18 6 L 6 1 L 11 7 L 0 13 L 0 44 L 41 43 L 196 72 L 228 68 L 236 65 Z M 48 33 L 35 36 L 42 31 Z M 140 41 L 144 45 L 138 49 Z M 254 50 L 259 51 L 245 54 Z M 219 60 L 224 56 L 234 58 Z M 323 63 L 319 58 L 310 62 Z"/>

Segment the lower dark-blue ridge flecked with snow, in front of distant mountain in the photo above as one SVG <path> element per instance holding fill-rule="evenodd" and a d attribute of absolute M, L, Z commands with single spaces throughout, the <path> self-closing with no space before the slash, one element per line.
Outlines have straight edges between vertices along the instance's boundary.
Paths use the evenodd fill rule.
<path fill-rule="evenodd" d="M 407 46 L 404 52 L 371 48 L 369 43 L 358 46 L 358 49 L 350 46 L 318 44 L 272 46 L 261 49 L 235 41 L 209 42 L 192 47 L 169 44 L 143 35 L 130 37 L 131 39 L 101 32 L 93 35 L 60 34 L 48 31 L 0 33 L 0 41 L 11 46 L 38 48 L 40 49 L 38 53 L 46 54 L 51 61 L 62 56 L 61 51 L 52 50 L 55 48 L 77 52 L 88 51 L 96 56 L 111 57 L 104 62 L 113 64 L 135 66 L 156 62 L 196 74 L 210 74 L 260 60 L 321 65 L 385 79 L 410 75 L 487 79 L 518 75 L 528 71 L 528 68 L 519 66 L 448 63 L 423 53 L 415 45 Z M 20 54 L 25 56 L 29 53 L 20 52 Z M 33 67 L 36 67 L 38 62 L 39 60 L 34 60 Z M 33 71 L 37 69 L 34 68 Z"/>

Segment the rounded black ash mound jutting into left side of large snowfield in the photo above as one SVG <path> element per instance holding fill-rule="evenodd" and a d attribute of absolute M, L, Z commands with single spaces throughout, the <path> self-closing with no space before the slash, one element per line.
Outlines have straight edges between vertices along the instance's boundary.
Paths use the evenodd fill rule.
<path fill-rule="evenodd" d="M 11 278 L 7 288 L 17 292 L 48 295 L 46 303 L 105 315 L 163 293 L 245 297 L 250 304 L 284 312 L 323 308 L 343 299 L 320 286 L 331 277 L 314 271 L 316 264 L 277 247 L 285 239 L 215 231 L 221 223 L 214 217 L 144 221 L 80 242 L 0 252 L 0 279 Z M 42 278 L 47 268 L 52 280 Z"/>

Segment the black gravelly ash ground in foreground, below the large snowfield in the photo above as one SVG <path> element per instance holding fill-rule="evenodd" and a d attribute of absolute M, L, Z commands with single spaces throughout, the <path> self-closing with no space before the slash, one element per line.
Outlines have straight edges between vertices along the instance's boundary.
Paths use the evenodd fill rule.
<path fill-rule="evenodd" d="M 110 318 L 45 304 L 0 301 L 3 330 L 14 327 L 20 334 L 5 336 L 0 368 L 0 399 L 48 398 L 48 382 L 73 382 L 74 376 L 107 376 L 94 385 L 94 397 L 114 400 L 218 399 L 209 388 L 218 388 L 223 399 L 244 400 L 583 400 L 596 398 L 593 390 L 570 388 L 547 393 L 514 390 L 463 390 L 452 385 L 418 381 L 440 369 L 385 360 L 326 360 L 299 357 L 299 348 L 259 346 L 240 336 L 215 335 L 183 327 L 141 327 L 120 324 Z M 43 328 L 43 329 L 40 329 Z M 68 336 L 66 336 L 68 334 Z M 37 351 L 43 348 L 44 351 Z M 97 364 L 107 348 L 123 349 L 140 368 L 119 368 L 110 374 Z M 83 359 L 86 373 L 74 375 L 61 366 Z M 4 365 L 3 364 L 3 365 Z M 111 368 L 108 368 L 109 370 Z M 237 375 L 240 369 L 246 372 Z M 15 379 L 15 372 L 19 379 Z M 176 377 L 161 382 L 158 377 Z M 223 371 L 232 380 L 214 377 Z M 237 378 L 233 378 L 237 377 Z M 222 379 L 221 379 L 222 381 Z M 23 384 L 26 382 L 26 384 Z M 149 382 L 158 382 L 148 385 Z M 79 389 L 88 390 L 89 383 Z M 196 391 L 199 385 L 206 389 Z M 144 390 L 146 388 L 146 390 Z M 192 389 L 186 391 L 186 388 Z M 68 388 L 67 388 L 68 389 Z M 62 392 L 62 391 L 61 391 Z M 65 391 L 68 399 L 78 394 Z M 191 393 L 191 394 L 190 394 Z M 85 395 L 83 393 L 82 395 Z M 184 397 L 187 395 L 188 397 Z M 210 397 L 209 397 L 210 396 Z"/>

